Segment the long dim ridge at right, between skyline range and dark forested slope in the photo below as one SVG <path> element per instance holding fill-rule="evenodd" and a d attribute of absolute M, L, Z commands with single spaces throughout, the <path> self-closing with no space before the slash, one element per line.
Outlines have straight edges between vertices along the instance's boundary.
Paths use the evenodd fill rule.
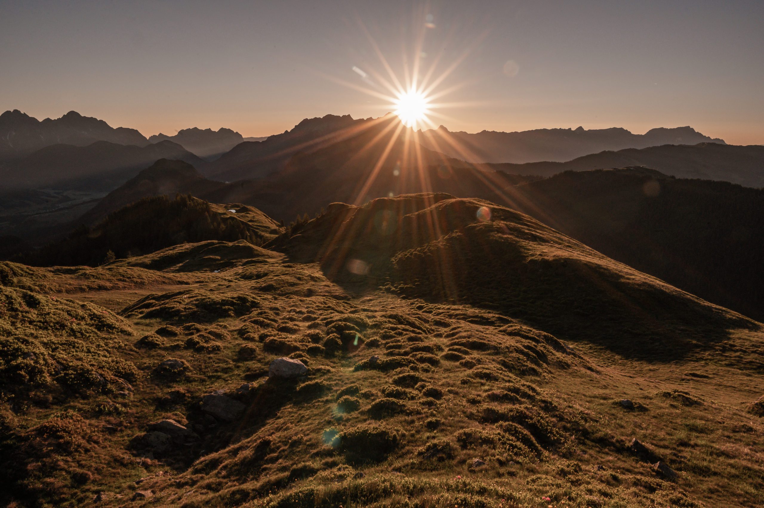
<path fill-rule="evenodd" d="M 764 146 L 701 143 L 627 148 L 586 155 L 568 162 L 489 164 L 495 170 L 523 175 L 552 176 L 562 171 L 646 166 L 678 178 L 724 180 L 748 187 L 764 187 Z"/>

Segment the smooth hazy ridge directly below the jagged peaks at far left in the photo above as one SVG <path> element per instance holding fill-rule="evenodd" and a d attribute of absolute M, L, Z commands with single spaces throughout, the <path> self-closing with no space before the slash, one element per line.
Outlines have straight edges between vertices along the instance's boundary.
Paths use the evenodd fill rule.
<path fill-rule="evenodd" d="M 96 141 L 85 147 L 54 144 L 0 166 L 0 186 L 34 188 L 68 184 L 82 190 L 113 189 L 159 159 L 184 160 L 196 167 L 205 163 L 172 141 L 144 147 L 108 141 Z"/>

